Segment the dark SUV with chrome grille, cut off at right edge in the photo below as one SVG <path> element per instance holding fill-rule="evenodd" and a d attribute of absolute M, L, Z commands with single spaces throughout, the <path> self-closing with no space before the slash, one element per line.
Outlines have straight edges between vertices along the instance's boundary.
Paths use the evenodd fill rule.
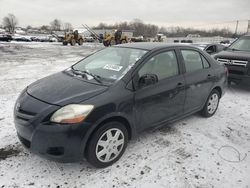
<path fill-rule="evenodd" d="M 227 66 L 230 82 L 250 85 L 250 35 L 237 39 L 214 58 Z"/>

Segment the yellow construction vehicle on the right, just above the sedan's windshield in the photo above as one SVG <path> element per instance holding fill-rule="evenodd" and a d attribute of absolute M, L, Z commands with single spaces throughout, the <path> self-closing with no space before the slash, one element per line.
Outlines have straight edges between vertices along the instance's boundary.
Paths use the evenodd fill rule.
<path fill-rule="evenodd" d="M 103 45 L 104 46 L 112 46 L 116 44 L 124 44 L 128 43 L 128 36 L 124 35 L 121 30 L 115 30 L 111 34 L 104 33 L 103 36 Z"/>

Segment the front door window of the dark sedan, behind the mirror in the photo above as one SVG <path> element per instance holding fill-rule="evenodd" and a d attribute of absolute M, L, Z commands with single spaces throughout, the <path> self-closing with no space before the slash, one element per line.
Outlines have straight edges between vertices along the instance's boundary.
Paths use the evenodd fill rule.
<path fill-rule="evenodd" d="M 174 51 L 163 52 L 150 58 L 139 70 L 139 77 L 155 74 L 158 80 L 175 76 L 179 73 L 177 58 Z"/>

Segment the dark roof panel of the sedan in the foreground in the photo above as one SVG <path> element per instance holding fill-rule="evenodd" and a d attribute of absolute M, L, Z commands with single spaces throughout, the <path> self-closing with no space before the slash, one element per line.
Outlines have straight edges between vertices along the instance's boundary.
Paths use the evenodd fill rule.
<path fill-rule="evenodd" d="M 124 48 L 137 48 L 143 50 L 154 50 L 168 47 L 187 47 L 187 44 L 176 44 L 176 43 L 163 43 L 163 42 L 134 42 L 134 43 L 126 43 L 119 44 L 115 47 L 124 47 Z M 190 45 L 191 47 L 191 45 Z"/>

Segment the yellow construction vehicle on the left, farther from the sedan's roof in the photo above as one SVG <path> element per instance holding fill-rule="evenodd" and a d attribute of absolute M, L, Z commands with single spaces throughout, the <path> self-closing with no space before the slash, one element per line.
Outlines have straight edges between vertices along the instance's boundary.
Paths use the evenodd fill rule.
<path fill-rule="evenodd" d="M 82 45 L 83 42 L 84 38 L 78 33 L 77 30 L 75 30 L 74 32 L 65 33 L 64 35 L 63 45 L 71 44 L 71 46 L 75 46 L 76 43 Z"/>

